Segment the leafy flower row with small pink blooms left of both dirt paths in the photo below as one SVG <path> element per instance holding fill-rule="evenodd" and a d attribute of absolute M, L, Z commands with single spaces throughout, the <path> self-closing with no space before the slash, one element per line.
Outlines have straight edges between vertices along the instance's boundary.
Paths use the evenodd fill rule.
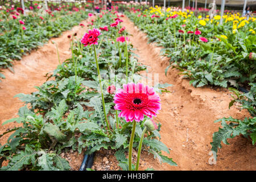
<path fill-rule="evenodd" d="M 26 16 L 20 7 L 3 6 L 0 10 L 0 68 L 13 71 L 13 60 L 20 60 L 25 53 L 42 46 L 49 38 L 59 36 L 88 16 L 84 7 L 63 5 L 55 11 L 37 7 L 31 7 Z M 0 77 L 5 78 L 2 73 Z"/>

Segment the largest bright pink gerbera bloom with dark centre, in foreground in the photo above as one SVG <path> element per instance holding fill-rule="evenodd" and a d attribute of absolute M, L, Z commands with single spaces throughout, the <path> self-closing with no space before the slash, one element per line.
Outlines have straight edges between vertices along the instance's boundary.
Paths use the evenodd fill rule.
<path fill-rule="evenodd" d="M 144 115 L 152 118 L 161 109 L 159 95 L 154 88 L 141 83 L 123 84 L 114 96 L 114 109 L 121 110 L 118 117 L 125 117 L 127 122 L 143 121 Z"/>

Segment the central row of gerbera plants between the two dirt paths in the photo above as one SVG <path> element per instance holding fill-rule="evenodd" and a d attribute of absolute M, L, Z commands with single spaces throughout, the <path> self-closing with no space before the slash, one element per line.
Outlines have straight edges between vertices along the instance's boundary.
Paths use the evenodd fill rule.
<path fill-rule="evenodd" d="M 151 119 L 160 109 L 158 94 L 133 83 L 140 79 L 136 73 L 146 68 L 133 56 L 133 45 L 119 18 L 117 11 L 102 12 L 81 40 L 68 36 L 72 57 L 58 65 L 51 75 L 54 79 L 36 87 L 37 92 L 16 96 L 26 105 L 19 109 L 18 118 L 3 123 L 16 121 L 22 126 L 0 135 L 14 131 L 0 146 L 0 166 L 8 161 L 2 170 L 66 170 L 70 166 L 61 158 L 62 152 L 91 154 L 102 147 L 115 150 L 124 170 L 138 170 L 142 142 L 161 162 L 176 166 L 162 155 L 161 151 L 169 150 L 157 139 L 160 124 Z M 111 79 L 102 80 L 102 75 Z M 133 80 L 129 84 L 128 75 Z M 115 90 L 118 86 L 113 82 L 122 89 Z M 136 165 L 131 164 L 133 147 L 139 150 Z"/>

